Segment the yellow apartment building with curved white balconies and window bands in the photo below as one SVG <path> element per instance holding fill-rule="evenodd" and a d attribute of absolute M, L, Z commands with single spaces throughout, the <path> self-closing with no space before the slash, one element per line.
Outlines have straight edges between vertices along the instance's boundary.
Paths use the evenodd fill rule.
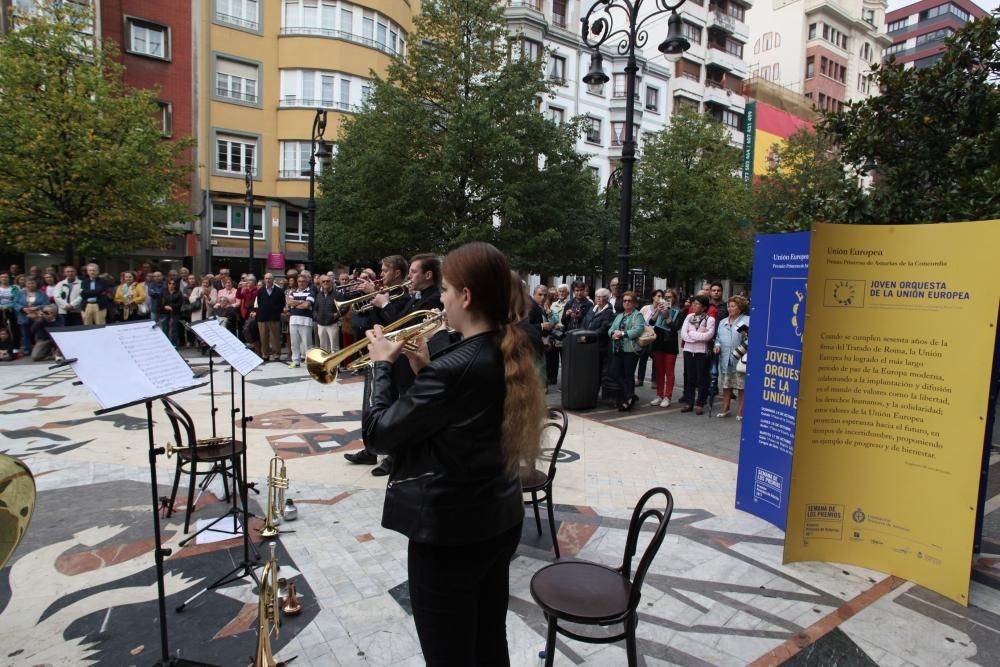
<path fill-rule="evenodd" d="M 406 56 L 409 0 L 210 0 L 195 25 L 205 266 L 245 269 L 245 172 L 253 174 L 253 269 L 307 258 L 316 110 L 325 138 L 370 92 L 369 71 Z M 321 166 L 317 165 L 317 171 Z"/>

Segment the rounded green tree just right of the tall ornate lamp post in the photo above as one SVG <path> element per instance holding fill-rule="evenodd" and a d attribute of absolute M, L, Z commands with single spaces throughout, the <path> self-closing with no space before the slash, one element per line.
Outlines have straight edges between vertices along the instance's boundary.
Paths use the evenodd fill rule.
<path fill-rule="evenodd" d="M 749 273 L 753 238 L 740 149 L 721 123 L 685 110 L 636 161 L 636 264 L 672 283 Z"/>

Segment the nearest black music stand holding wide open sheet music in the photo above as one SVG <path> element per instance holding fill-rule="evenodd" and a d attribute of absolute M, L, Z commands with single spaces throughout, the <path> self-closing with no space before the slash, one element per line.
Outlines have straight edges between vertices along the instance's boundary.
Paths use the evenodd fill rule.
<path fill-rule="evenodd" d="M 167 638 L 167 599 L 163 583 L 163 560 L 172 553 L 163 548 L 160 533 L 160 498 L 156 479 L 156 457 L 165 453 L 153 435 L 153 401 L 205 386 L 191 373 L 163 331 L 149 320 L 122 322 L 103 327 L 66 327 L 51 332 L 65 360 L 82 384 L 94 395 L 103 415 L 134 405 L 146 406 L 149 442 L 149 475 L 153 499 L 153 537 L 156 548 L 157 601 L 159 604 L 160 660 L 157 666 L 213 667 L 209 663 L 171 657 Z"/>

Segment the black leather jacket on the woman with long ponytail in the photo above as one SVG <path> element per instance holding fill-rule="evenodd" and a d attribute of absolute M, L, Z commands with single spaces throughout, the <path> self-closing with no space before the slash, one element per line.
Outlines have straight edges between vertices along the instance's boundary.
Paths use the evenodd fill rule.
<path fill-rule="evenodd" d="M 393 399 L 392 365 L 372 364 L 362 429 L 393 456 L 382 525 L 415 542 L 470 544 L 524 520 L 521 484 L 504 467 L 506 392 L 496 332 L 446 348 Z"/>

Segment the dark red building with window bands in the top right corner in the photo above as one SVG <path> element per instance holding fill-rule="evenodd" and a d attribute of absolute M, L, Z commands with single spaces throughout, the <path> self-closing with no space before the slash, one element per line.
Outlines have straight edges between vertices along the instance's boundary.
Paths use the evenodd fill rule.
<path fill-rule="evenodd" d="M 885 31 L 892 44 L 882 54 L 906 67 L 930 67 L 941 59 L 944 40 L 969 21 L 986 16 L 971 0 L 923 0 L 885 15 Z"/>

